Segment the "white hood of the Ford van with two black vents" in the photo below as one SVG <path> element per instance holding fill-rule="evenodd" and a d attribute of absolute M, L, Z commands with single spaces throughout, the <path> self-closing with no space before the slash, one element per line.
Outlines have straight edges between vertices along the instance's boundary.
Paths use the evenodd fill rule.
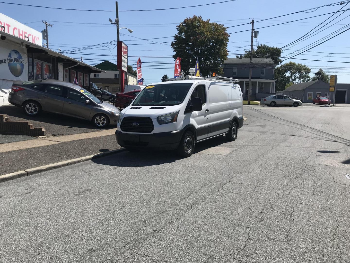
<path fill-rule="evenodd" d="M 128 106 L 121 111 L 123 117 L 126 116 L 143 116 L 156 119 L 158 116 L 166 115 L 169 113 L 177 112 L 181 109 L 181 105 L 173 106 Z"/>

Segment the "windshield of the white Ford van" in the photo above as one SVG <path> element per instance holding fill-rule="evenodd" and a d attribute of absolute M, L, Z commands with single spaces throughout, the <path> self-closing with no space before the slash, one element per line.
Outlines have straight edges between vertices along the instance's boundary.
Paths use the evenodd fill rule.
<path fill-rule="evenodd" d="M 181 104 L 192 84 L 175 82 L 147 86 L 136 97 L 133 106 L 170 106 Z"/>

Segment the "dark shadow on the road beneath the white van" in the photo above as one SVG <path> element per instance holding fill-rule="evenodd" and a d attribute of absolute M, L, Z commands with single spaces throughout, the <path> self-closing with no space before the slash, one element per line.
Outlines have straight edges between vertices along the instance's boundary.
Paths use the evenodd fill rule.
<path fill-rule="evenodd" d="M 193 154 L 227 143 L 225 136 L 219 136 L 208 141 L 196 143 Z M 104 151 L 105 149 L 100 149 Z M 97 164 L 116 166 L 116 167 L 145 167 L 164 163 L 173 163 L 183 157 L 177 155 L 176 151 L 153 151 L 151 149 L 141 149 L 139 151 L 123 151 L 121 153 L 109 155 L 106 157 L 92 158 L 92 162 Z"/>

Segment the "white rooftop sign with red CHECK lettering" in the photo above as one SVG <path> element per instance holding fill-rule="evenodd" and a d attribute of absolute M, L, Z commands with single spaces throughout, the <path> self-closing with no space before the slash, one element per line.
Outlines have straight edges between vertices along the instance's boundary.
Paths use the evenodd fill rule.
<path fill-rule="evenodd" d="M 1 27 L 1 31 L 5 31 L 8 34 L 18 36 L 21 39 L 27 40 L 40 46 L 42 44 L 42 35 L 39 31 L 23 25 L 22 23 L 1 13 L 0 25 L 5 27 Z"/>

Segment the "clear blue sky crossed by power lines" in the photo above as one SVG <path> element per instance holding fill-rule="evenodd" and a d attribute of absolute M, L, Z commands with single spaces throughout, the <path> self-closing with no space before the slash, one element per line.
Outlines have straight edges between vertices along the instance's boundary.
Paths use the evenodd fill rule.
<path fill-rule="evenodd" d="M 159 1 L 159 0 L 121 0 L 118 1 L 119 10 L 130 9 L 155 9 L 155 8 L 169 8 L 180 7 L 188 5 L 208 4 L 212 2 L 219 2 L 220 0 L 202 0 L 190 2 L 174 2 L 174 1 Z M 336 2 L 334 0 L 332 2 Z M 76 8 L 76 9 L 103 9 L 114 10 L 115 1 L 8 1 L 19 4 L 29 5 L 47 5 L 50 7 L 62 8 Z M 278 15 L 288 14 L 305 10 L 308 8 L 318 7 L 332 3 L 331 0 L 320 1 L 301 1 L 294 0 L 293 4 L 287 4 L 286 1 L 272 0 L 272 1 L 244 1 L 237 0 L 223 4 L 215 4 L 203 7 L 192 7 L 177 10 L 166 11 L 143 11 L 143 12 L 119 12 L 120 26 L 133 29 L 133 33 L 129 33 L 126 29 L 121 29 L 120 40 L 123 40 L 128 45 L 129 59 L 128 64 L 136 68 L 136 61 L 138 57 L 142 61 L 142 74 L 146 83 L 158 82 L 163 74 L 171 77 L 174 74 L 174 59 L 171 56 L 174 54 L 170 43 L 153 43 L 151 41 L 135 41 L 148 38 L 161 38 L 165 36 L 172 36 L 176 33 L 176 25 L 178 25 L 185 18 L 193 15 L 201 15 L 203 19 L 210 19 L 210 21 L 223 23 L 225 26 L 234 26 L 251 21 L 271 18 Z M 176 6 L 174 6 L 176 3 Z M 248 6 L 248 4 L 251 4 Z M 292 21 L 309 16 L 315 16 L 330 12 L 335 12 L 345 5 L 327 6 L 317 9 L 315 12 L 283 16 L 272 20 L 256 22 L 255 28 L 265 27 L 282 23 L 285 21 Z M 344 9 L 350 7 L 350 4 Z M 109 24 L 109 18 L 114 20 L 115 12 L 87 12 L 87 11 L 64 11 L 58 9 L 47 9 L 37 7 L 16 6 L 0 3 L 0 13 L 10 16 L 21 23 L 28 23 L 27 25 L 41 31 L 44 29 L 44 24 L 41 20 L 48 20 L 53 25 L 49 28 L 49 45 L 51 49 L 57 51 L 58 48 L 62 50 L 70 50 L 78 47 L 85 47 L 105 43 L 116 40 L 116 27 Z M 339 13 L 334 15 L 336 17 Z M 322 37 L 334 32 L 335 30 L 350 23 L 350 10 L 339 16 L 329 25 L 335 23 L 328 29 L 312 36 L 311 38 L 295 45 L 288 47 L 292 50 L 283 50 L 283 56 L 289 53 L 304 48 L 308 44 L 321 39 Z M 330 15 L 319 16 L 317 18 L 310 18 L 302 20 L 301 22 L 292 22 L 284 25 L 272 26 L 268 28 L 257 29 L 259 31 L 259 38 L 254 39 L 254 45 L 259 43 L 266 43 L 267 45 L 282 47 L 290 43 L 302 35 L 306 34 L 318 23 L 322 22 Z M 342 21 L 339 21 L 343 19 Z M 224 21 L 228 20 L 228 21 Z M 329 20 L 328 20 L 329 21 Z M 338 22 L 339 21 L 339 22 Z M 65 23 L 65 22 L 79 22 L 79 23 Z M 84 23 L 84 24 L 83 24 Z M 92 23 L 92 24 L 91 24 Z M 329 26 L 327 25 L 327 26 Z M 327 27 L 326 26 L 326 27 Z M 346 26 L 343 30 L 349 28 Z M 250 25 L 237 26 L 228 29 L 228 33 L 243 31 L 250 29 Z M 342 30 L 342 31 L 343 31 Z M 350 63 L 336 63 L 328 61 L 344 61 L 349 62 L 350 45 L 349 38 L 350 30 L 336 36 L 335 38 L 317 46 L 310 51 L 305 52 L 295 57 L 295 59 L 286 60 L 303 63 L 311 68 L 311 72 L 316 72 L 318 68 L 323 68 L 329 74 L 338 75 L 338 83 L 350 83 Z M 169 42 L 172 38 L 156 39 L 156 42 Z M 139 45 L 135 45 L 139 44 Z M 244 53 L 244 49 L 249 49 L 250 32 L 233 33 L 230 36 L 228 50 L 230 54 Z M 105 44 L 105 46 L 94 46 L 94 49 L 85 49 L 78 51 L 79 54 L 69 54 L 73 58 L 83 56 L 83 60 L 90 65 L 96 65 L 103 60 L 116 60 L 116 48 L 113 48 L 114 43 Z M 316 53 L 324 52 L 324 53 Z M 88 54 L 80 54 L 88 53 Z M 332 54 L 330 54 L 332 53 Z M 337 54 L 344 53 L 344 54 Z M 98 54 L 98 56 L 96 56 Z M 100 54 L 103 54 L 100 56 Z M 104 56 L 108 55 L 108 56 Z M 132 57 L 135 56 L 135 57 Z M 147 58 L 146 56 L 169 56 L 165 58 Z M 290 55 L 289 55 L 290 56 Z M 235 56 L 228 56 L 234 58 Z M 296 60 L 298 59 L 298 60 Z M 311 59 L 299 60 L 299 59 Z M 325 62 L 317 60 L 326 60 Z M 314 74 L 310 74 L 312 77 Z"/>

